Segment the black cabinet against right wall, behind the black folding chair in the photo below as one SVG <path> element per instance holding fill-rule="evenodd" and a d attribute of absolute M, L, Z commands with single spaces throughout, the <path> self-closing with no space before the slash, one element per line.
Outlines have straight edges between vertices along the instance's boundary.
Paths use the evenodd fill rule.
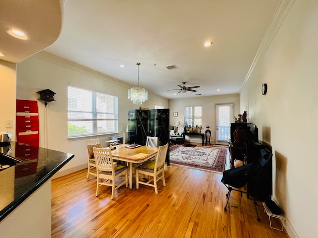
<path fill-rule="evenodd" d="M 231 137 L 229 140 L 229 150 L 231 154 L 231 168 L 234 167 L 234 160 L 241 160 L 244 164 L 250 164 L 259 159 L 260 150 L 270 147 L 267 143 L 258 140 L 258 130 L 255 124 L 251 123 L 231 123 Z M 269 168 L 272 168 L 270 160 Z M 257 191 L 256 199 L 265 201 L 272 195 L 272 170 L 265 173 L 261 184 L 248 184 L 247 191 Z"/>

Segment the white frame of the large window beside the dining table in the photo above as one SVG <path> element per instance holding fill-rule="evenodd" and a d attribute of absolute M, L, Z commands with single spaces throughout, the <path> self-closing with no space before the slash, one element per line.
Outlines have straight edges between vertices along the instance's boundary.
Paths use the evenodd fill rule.
<path fill-rule="evenodd" d="M 70 89 L 74 88 L 74 91 L 79 90 L 78 95 L 80 95 L 80 92 L 86 91 L 88 94 L 91 94 L 91 105 L 90 105 L 90 110 L 85 110 L 84 107 L 78 107 L 77 109 L 72 109 L 70 108 L 70 104 L 71 103 L 80 103 L 80 97 L 74 98 L 72 96 L 70 96 Z M 110 104 L 107 104 L 107 102 L 105 102 L 102 106 L 106 108 L 106 112 L 101 112 L 100 109 L 98 110 L 98 105 L 101 105 L 100 103 L 98 103 L 98 98 L 103 98 L 106 101 L 107 97 L 111 97 L 112 101 Z M 83 98 L 81 98 L 83 99 Z M 114 96 L 114 95 L 110 95 L 110 94 L 106 94 L 106 93 L 101 93 L 101 92 L 97 92 L 97 91 L 93 91 L 90 89 L 85 89 L 79 86 L 74 86 L 74 85 L 68 85 L 68 139 L 72 139 L 72 138 L 80 138 L 80 137 L 88 137 L 88 136 L 96 136 L 96 135 L 108 135 L 108 134 L 115 134 L 118 133 L 118 110 L 119 110 L 119 106 L 118 106 L 118 97 Z M 113 109 L 111 110 L 111 112 L 107 112 L 107 107 L 109 106 L 113 106 Z M 77 106 L 75 106 L 77 107 Z M 91 118 L 70 118 L 70 115 L 73 113 L 75 114 L 79 114 L 83 117 L 83 115 L 85 115 L 85 117 L 87 117 L 87 115 L 91 115 Z M 104 117 L 104 118 L 100 118 L 100 117 Z M 91 122 L 91 131 L 90 133 L 79 133 L 79 134 L 72 134 L 70 135 L 70 122 L 72 123 L 72 121 L 74 122 L 87 122 L 90 121 Z M 100 125 L 98 122 L 103 122 L 105 121 L 105 123 L 107 122 L 112 122 L 113 123 L 113 130 L 110 131 L 104 131 L 104 132 L 98 132 L 98 125 Z M 73 124 L 74 125 L 74 124 Z M 76 126 L 76 125 L 75 125 Z M 103 128 L 103 126 L 101 127 Z M 107 128 L 105 126 L 105 128 Z M 88 129 L 89 130 L 89 129 Z"/>

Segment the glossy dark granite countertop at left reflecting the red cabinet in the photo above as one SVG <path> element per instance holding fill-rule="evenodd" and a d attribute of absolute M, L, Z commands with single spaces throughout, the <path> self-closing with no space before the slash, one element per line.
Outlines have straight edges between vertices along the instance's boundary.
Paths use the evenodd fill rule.
<path fill-rule="evenodd" d="M 0 152 L 21 161 L 0 169 L 0 221 L 74 157 L 18 142 L 0 145 Z"/>

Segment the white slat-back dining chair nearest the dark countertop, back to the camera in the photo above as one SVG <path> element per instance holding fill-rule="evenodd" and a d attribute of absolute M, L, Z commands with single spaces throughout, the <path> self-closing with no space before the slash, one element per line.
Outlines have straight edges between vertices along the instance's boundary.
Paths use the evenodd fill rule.
<path fill-rule="evenodd" d="M 115 197 L 115 190 L 126 184 L 128 187 L 128 166 L 117 164 L 113 161 L 111 149 L 109 148 L 93 148 L 96 170 L 97 170 L 97 188 L 96 197 L 99 195 L 99 187 L 101 185 L 111 186 L 111 199 Z M 116 179 L 125 175 L 125 180 L 121 183 L 116 183 Z M 104 179 L 104 181 L 102 181 Z"/>

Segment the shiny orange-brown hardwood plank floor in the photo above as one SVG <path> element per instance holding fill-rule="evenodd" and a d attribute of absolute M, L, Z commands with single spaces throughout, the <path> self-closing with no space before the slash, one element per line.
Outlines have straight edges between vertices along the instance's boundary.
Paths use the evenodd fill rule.
<path fill-rule="evenodd" d="M 123 186 L 111 200 L 106 186 L 95 197 L 96 179 L 86 179 L 86 173 L 52 180 L 53 238 L 288 238 L 270 228 L 260 202 L 261 222 L 256 220 L 245 194 L 238 208 L 224 211 L 228 189 L 221 174 L 170 165 L 159 194 L 149 186 Z M 239 193 L 232 192 L 229 204 L 238 202 Z"/>

